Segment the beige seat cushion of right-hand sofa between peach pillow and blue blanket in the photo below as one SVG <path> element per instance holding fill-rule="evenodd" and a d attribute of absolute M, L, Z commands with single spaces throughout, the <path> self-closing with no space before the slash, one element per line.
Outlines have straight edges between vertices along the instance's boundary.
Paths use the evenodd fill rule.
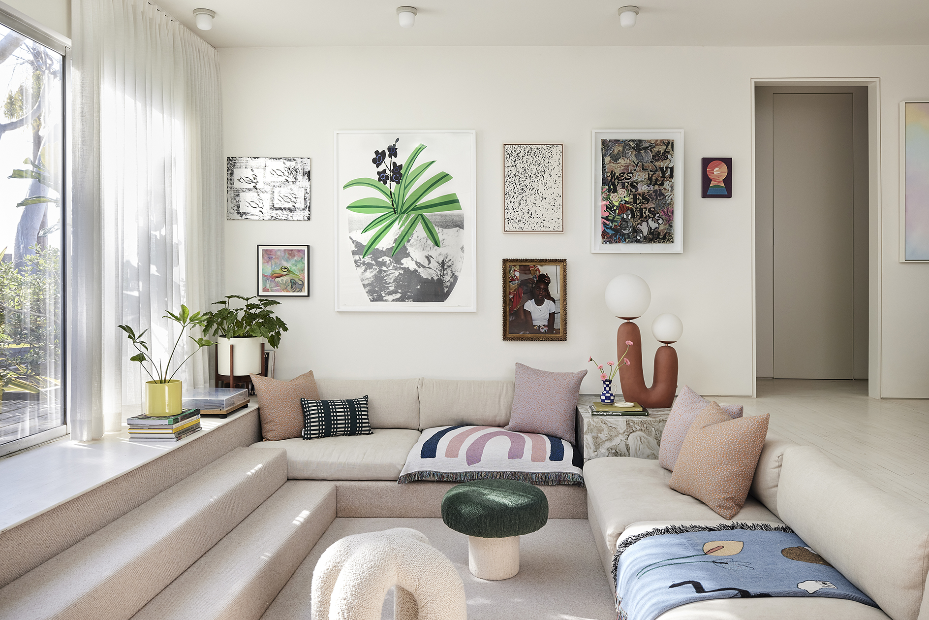
<path fill-rule="evenodd" d="M 594 458 L 584 465 L 583 478 L 587 485 L 588 511 L 595 514 L 596 523 L 604 543 L 598 545 L 602 560 L 612 563 L 616 541 L 620 534 L 635 521 L 719 521 L 699 499 L 677 493 L 668 486 L 671 472 L 650 458 L 631 456 L 605 456 Z M 751 495 L 733 521 L 768 521 L 781 523 L 774 514 Z"/>

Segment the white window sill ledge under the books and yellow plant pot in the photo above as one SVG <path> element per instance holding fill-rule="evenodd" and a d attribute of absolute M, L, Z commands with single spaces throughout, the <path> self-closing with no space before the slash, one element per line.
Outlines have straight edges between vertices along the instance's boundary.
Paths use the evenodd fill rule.
<path fill-rule="evenodd" d="M 0 459 L 0 533 L 196 442 L 257 408 L 257 402 L 250 402 L 226 419 L 201 418 L 203 430 L 179 442 L 130 442 L 124 427 L 90 442 L 74 442 L 65 436 Z"/>

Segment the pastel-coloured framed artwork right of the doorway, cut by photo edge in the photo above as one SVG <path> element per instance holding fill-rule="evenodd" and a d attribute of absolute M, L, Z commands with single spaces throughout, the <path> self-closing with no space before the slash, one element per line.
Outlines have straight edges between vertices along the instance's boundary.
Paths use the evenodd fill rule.
<path fill-rule="evenodd" d="M 900 102 L 900 262 L 929 262 L 929 101 Z"/>

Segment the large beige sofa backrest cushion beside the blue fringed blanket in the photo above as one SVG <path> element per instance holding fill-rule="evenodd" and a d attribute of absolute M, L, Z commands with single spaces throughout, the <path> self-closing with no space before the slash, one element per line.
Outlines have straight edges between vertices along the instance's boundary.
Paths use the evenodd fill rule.
<path fill-rule="evenodd" d="M 779 517 L 894 620 L 917 620 L 929 568 L 929 513 L 810 446 L 784 451 Z"/>

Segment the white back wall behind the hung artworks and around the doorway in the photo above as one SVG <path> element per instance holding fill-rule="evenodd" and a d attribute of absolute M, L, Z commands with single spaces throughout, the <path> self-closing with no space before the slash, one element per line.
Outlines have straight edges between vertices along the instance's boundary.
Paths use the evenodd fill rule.
<path fill-rule="evenodd" d="M 614 275 L 652 290 L 638 322 L 674 312 L 679 385 L 752 393 L 750 79 L 881 77 L 883 395 L 929 397 L 929 265 L 897 257 L 897 108 L 929 98 L 929 47 L 307 47 L 220 50 L 228 155 L 313 158 L 312 221 L 229 221 L 229 293 L 255 294 L 256 244 L 310 244 L 311 297 L 284 299 L 278 376 L 510 378 L 615 359 Z M 478 312 L 334 311 L 335 129 L 478 131 Z M 684 254 L 590 252 L 592 129 L 685 131 Z M 565 144 L 565 232 L 504 234 L 504 142 Z M 703 156 L 733 157 L 730 200 L 700 199 Z M 568 259 L 567 342 L 503 342 L 501 259 Z M 646 377 L 651 368 L 647 363 Z M 593 373 L 582 390 L 599 392 Z"/>

